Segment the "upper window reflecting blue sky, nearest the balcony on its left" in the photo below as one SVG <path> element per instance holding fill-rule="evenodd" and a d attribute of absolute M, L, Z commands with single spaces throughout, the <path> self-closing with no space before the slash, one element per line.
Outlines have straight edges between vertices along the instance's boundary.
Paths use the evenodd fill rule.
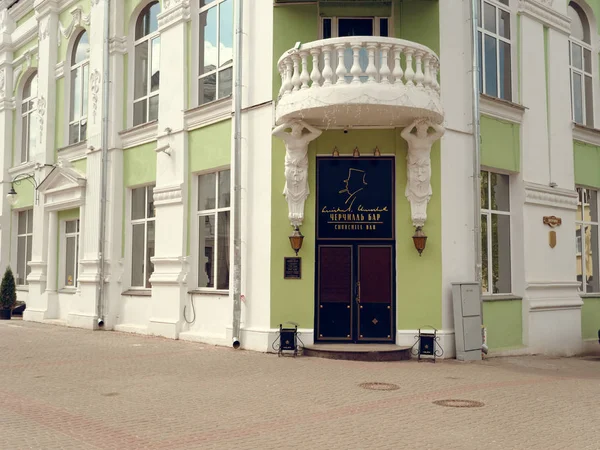
<path fill-rule="evenodd" d="M 233 0 L 200 1 L 198 104 L 231 95 Z"/>

